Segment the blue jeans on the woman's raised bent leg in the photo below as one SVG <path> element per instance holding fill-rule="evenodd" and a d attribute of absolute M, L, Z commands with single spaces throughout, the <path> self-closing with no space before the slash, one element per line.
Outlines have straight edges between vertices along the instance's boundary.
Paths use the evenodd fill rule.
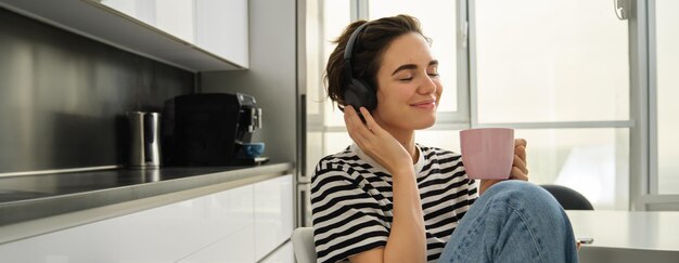
<path fill-rule="evenodd" d="M 571 221 L 541 187 L 490 186 L 464 214 L 438 262 L 577 262 Z"/>

